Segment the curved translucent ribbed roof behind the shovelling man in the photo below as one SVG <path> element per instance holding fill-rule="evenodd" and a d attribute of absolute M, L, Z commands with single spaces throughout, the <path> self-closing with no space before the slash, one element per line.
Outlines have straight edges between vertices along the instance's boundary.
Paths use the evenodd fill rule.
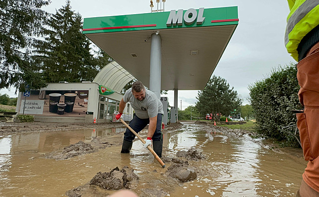
<path fill-rule="evenodd" d="M 94 78 L 93 82 L 108 87 L 116 92 L 121 92 L 124 86 L 135 79 L 121 65 L 113 61 L 107 64 Z"/>

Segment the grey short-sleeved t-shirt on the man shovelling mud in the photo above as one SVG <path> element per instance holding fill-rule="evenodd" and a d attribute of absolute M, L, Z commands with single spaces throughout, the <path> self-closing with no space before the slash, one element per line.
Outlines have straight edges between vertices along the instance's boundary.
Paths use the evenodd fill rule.
<path fill-rule="evenodd" d="M 132 88 L 125 92 L 123 101 L 125 103 L 130 102 L 132 108 L 135 110 L 136 116 L 141 119 L 153 118 L 157 116 L 157 114 L 164 114 L 162 102 L 157 98 L 154 92 L 148 89 L 145 90 L 145 98 L 143 101 L 139 101 L 134 97 Z"/>

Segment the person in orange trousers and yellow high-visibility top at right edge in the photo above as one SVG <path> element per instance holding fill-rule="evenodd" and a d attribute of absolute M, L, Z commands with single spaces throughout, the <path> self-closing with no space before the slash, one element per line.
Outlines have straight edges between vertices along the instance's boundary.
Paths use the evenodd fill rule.
<path fill-rule="evenodd" d="M 288 0 L 285 45 L 298 62 L 299 101 L 297 127 L 303 155 L 308 161 L 296 196 L 319 196 L 319 1 Z"/>

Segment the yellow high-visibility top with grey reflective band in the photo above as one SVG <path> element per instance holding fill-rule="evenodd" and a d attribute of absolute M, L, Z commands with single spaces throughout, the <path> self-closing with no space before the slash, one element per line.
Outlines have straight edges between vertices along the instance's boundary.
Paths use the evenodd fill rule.
<path fill-rule="evenodd" d="M 288 0 L 285 45 L 288 53 L 298 62 L 298 45 L 302 38 L 319 25 L 318 0 Z"/>

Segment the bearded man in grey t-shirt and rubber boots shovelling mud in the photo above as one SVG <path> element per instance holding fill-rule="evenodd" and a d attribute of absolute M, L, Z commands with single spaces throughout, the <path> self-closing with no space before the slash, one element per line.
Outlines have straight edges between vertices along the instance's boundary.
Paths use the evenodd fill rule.
<path fill-rule="evenodd" d="M 158 157 L 162 157 L 163 135 L 161 126 L 164 111 L 161 101 L 152 91 L 145 89 L 142 82 L 135 81 L 132 88 L 125 92 L 119 103 L 119 113 L 115 117 L 116 120 L 121 118 L 126 103 L 128 102 L 130 102 L 135 111 L 133 120 L 130 122 L 130 127 L 138 133 L 149 124 L 144 147 L 147 149 L 152 139 L 154 152 Z M 127 128 L 124 133 L 121 153 L 130 153 L 134 138 L 135 135 Z"/>

